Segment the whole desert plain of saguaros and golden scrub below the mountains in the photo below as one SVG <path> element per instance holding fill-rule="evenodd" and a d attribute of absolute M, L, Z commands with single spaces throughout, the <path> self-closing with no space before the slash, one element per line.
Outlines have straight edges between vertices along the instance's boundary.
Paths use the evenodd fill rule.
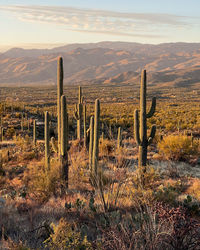
<path fill-rule="evenodd" d="M 1 248 L 200 249 L 198 92 L 57 69 L 57 88 L 1 88 Z"/>

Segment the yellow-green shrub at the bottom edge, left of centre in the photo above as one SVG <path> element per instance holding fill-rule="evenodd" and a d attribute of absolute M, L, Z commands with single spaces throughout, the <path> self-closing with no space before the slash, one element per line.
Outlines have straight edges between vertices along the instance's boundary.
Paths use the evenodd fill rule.
<path fill-rule="evenodd" d="M 45 241 L 50 249 L 93 249 L 86 236 L 82 236 L 75 223 L 70 224 L 64 218 L 58 225 L 52 224 L 53 233 Z"/>

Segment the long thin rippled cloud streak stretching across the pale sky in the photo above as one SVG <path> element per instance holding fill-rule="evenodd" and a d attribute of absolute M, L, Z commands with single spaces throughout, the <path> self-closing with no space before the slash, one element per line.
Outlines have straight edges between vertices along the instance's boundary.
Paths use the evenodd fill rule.
<path fill-rule="evenodd" d="M 63 25 L 71 31 L 120 36 L 158 37 L 161 34 L 164 36 L 166 30 L 190 25 L 186 17 L 158 13 L 122 13 L 38 5 L 0 5 L 0 10 L 9 11 L 25 22 Z"/>

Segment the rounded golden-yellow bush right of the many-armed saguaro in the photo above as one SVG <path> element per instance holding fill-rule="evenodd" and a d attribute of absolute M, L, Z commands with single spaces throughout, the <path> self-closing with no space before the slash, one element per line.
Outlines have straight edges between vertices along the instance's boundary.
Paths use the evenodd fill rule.
<path fill-rule="evenodd" d="M 167 160 L 188 160 L 198 152 L 198 142 L 185 135 L 169 135 L 158 143 L 159 153 Z"/>

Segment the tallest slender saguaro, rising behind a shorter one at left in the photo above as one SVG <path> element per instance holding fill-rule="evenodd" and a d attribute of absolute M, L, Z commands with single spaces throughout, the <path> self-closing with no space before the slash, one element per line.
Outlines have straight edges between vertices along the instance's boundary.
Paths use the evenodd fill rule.
<path fill-rule="evenodd" d="M 57 63 L 57 123 L 58 123 L 58 154 L 61 151 L 61 96 L 63 95 L 63 59 L 58 58 Z"/>

